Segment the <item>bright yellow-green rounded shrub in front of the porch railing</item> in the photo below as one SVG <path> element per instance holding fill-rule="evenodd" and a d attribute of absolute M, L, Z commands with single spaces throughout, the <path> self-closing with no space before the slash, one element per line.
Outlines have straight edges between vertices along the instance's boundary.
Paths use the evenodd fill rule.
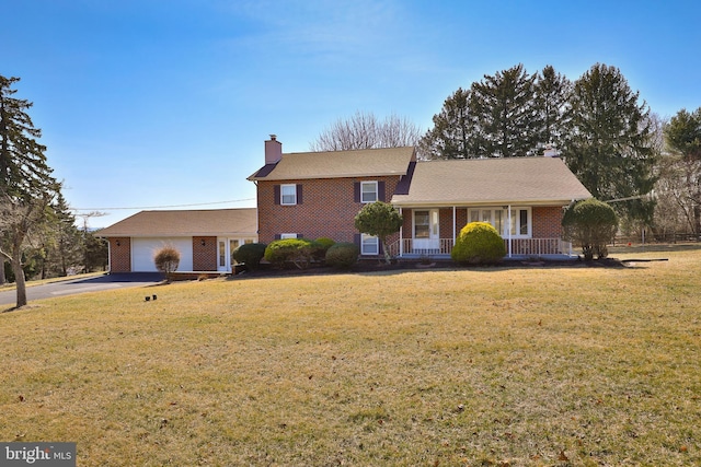
<path fill-rule="evenodd" d="M 462 227 L 450 254 L 456 262 L 469 265 L 497 262 L 505 255 L 504 240 L 487 222 L 470 222 Z"/>

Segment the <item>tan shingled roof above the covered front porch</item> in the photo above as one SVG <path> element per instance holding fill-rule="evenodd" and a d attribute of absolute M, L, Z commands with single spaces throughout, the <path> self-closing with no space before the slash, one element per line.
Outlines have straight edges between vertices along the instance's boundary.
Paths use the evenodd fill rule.
<path fill-rule="evenodd" d="M 568 203 L 591 194 L 558 157 L 417 162 L 401 206 Z"/>

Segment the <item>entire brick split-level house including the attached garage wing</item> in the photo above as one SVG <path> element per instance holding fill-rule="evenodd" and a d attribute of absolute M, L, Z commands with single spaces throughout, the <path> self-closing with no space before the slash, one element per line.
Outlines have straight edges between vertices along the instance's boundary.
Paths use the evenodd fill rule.
<path fill-rule="evenodd" d="M 181 272 L 230 272 L 238 245 L 289 237 L 355 242 L 364 257 L 376 257 L 381 245 L 354 220 L 377 200 L 404 219 L 388 246 L 397 257 L 448 257 L 472 221 L 494 225 L 509 257 L 563 256 L 571 253 L 563 211 L 591 197 L 558 157 L 417 161 L 413 147 L 285 154 L 274 136 L 249 180 L 257 208 L 141 211 L 100 231 L 110 271 L 154 271 L 154 253 L 172 245 Z"/>

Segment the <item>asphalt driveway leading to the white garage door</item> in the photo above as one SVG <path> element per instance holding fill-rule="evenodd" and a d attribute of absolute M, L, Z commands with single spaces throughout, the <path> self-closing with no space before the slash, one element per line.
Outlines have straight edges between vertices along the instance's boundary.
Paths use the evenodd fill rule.
<path fill-rule="evenodd" d="M 84 279 L 68 279 L 59 282 L 27 287 L 26 297 L 28 302 L 32 302 L 33 300 L 74 295 L 85 292 L 99 292 L 102 290 L 127 287 L 146 287 L 161 281 L 163 281 L 163 275 L 158 272 L 129 272 L 104 275 Z M 14 289 L 0 292 L 0 307 L 4 307 L 4 305 L 14 305 L 15 303 L 16 291 Z"/>

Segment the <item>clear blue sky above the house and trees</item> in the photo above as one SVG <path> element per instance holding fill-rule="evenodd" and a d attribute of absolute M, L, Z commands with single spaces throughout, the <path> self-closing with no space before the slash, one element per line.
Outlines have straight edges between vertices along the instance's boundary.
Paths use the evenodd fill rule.
<path fill-rule="evenodd" d="M 69 203 L 107 213 L 92 227 L 254 207 L 269 133 L 308 151 L 356 110 L 426 130 L 459 86 L 517 63 L 573 81 L 612 65 L 662 117 L 701 106 L 697 1 L 1 2 L 0 74 L 22 79 Z"/>

